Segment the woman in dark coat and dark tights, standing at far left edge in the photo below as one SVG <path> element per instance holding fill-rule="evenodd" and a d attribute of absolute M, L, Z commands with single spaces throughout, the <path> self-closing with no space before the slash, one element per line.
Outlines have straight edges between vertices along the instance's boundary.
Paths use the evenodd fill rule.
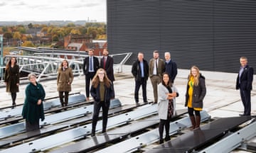
<path fill-rule="evenodd" d="M 6 92 L 11 93 L 12 108 L 16 106 L 16 93 L 18 92 L 19 77 L 19 67 L 16 57 L 11 57 L 6 64 L 4 83 L 6 84 Z"/>

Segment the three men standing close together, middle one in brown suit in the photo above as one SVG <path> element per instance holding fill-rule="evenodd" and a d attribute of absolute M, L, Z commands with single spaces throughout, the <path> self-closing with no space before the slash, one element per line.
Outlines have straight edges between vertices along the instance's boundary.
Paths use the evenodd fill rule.
<path fill-rule="evenodd" d="M 132 64 L 132 75 L 135 79 L 134 98 L 137 105 L 139 105 L 139 88 L 142 86 L 142 97 L 144 103 L 148 103 L 146 96 L 146 82 L 150 78 L 154 91 L 154 103 L 158 101 L 158 84 L 162 80 L 162 74 L 167 72 L 170 80 L 174 83 L 177 75 L 177 64 L 171 60 L 171 53 L 165 52 L 164 60 L 159 58 L 159 51 L 154 50 L 153 58 L 149 60 L 149 64 L 144 60 L 143 52 L 138 53 L 137 60 Z"/>

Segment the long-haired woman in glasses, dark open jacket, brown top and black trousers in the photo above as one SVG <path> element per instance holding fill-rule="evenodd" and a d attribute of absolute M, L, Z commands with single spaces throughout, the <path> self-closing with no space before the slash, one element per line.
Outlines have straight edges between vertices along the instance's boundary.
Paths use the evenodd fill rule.
<path fill-rule="evenodd" d="M 102 133 L 107 130 L 107 115 L 110 108 L 110 99 L 114 98 L 114 88 L 112 81 L 107 78 L 104 69 L 97 69 L 95 77 L 92 79 L 90 94 L 94 98 L 94 108 L 92 115 L 92 136 L 95 136 L 97 120 L 100 108 L 102 108 Z"/>

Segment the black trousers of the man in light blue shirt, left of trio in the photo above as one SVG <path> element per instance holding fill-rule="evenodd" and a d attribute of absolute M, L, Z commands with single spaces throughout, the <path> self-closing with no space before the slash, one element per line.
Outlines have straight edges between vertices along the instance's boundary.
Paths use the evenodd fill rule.
<path fill-rule="evenodd" d="M 142 96 L 143 96 L 143 101 L 146 102 L 146 79 L 142 78 L 141 81 L 135 81 L 135 91 L 134 91 L 134 98 L 135 102 L 139 102 L 139 88 L 142 86 Z"/>

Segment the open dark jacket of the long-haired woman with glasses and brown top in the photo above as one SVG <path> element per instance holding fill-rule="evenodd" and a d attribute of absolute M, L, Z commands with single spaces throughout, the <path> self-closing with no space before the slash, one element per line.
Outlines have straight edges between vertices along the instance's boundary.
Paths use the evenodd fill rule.
<path fill-rule="evenodd" d="M 100 102 L 100 84 L 98 84 L 96 88 L 92 85 L 90 89 L 90 94 L 95 101 Z M 110 99 L 112 98 L 114 98 L 114 87 L 111 83 L 110 88 L 107 88 L 107 86 L 105 86 L 105 103 L 110 103 Z"/>

